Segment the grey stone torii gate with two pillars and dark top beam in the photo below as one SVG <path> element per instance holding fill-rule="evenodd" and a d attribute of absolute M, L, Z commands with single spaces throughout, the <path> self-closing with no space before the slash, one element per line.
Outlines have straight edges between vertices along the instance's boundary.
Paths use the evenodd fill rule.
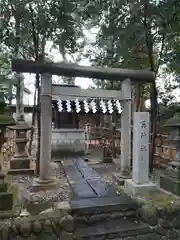
<path fill-rule="evenodd" d="M 34 62 L 31 60 L 13 60 L 12 70 L 17 73 L 41 74 L 41 147 L 40 176 L 34 181 L 34 187 L 55 187 L 50 171 L 52 137 L 52 95 L 59 95 L 58 88 L 52 87 L 52 75 L 68 77 L 98 78 L 122 82 L 121 91 L 103 91 L 79 89 L 76 97 L 108 97 L 123 101 L 121 121 L 121 172 L 130 168 L 131 162 L 131 84 L 152 82 L 155 75 L 147 70 L 127 70 L 118 68 L 84 67 L 76 64 Z M 82 80 L 83 81 L 83 80 Z M 104 92 L 104 93 L 103 93 Z M 107 96 L 108 95 L 108 96 Z"/>

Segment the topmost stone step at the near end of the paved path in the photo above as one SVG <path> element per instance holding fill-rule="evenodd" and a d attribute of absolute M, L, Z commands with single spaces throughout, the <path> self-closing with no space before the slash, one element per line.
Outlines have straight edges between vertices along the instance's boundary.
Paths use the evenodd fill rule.
<path fill-rule="evenodd" d="M 126 195 L 96 197 L 71 201 L 72 213 L 76 216 L 99 215 L 105 213 L 137 210 L 138 204 Z"/>

